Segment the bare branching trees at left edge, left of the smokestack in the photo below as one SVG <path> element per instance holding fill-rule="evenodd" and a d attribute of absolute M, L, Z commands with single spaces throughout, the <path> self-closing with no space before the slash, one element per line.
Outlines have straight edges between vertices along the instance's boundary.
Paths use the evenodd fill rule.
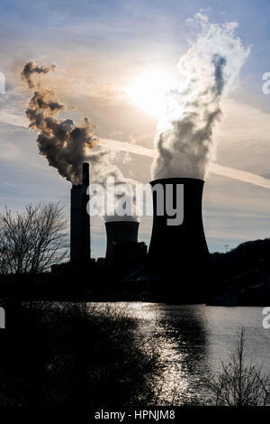
<path fill-rule="evenodd" d="M 67 255 L 66 219 L 60 204 L 27 205 L 0 214 L 0 272 L 37 274 Z"/>

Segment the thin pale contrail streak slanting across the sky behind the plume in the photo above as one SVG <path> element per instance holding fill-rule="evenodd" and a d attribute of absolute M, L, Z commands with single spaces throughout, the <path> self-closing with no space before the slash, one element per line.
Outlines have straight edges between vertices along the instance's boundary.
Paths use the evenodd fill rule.
<path fill-rule="evenodd" d="M 130 152 L 148 158 L 155 158 L 154 149 L 148 149 L 146 147 L 139 146 L 138 144 L 118 142 L 116 140 L 109 140 L 104 138 L 99 139 L 99 141 L 100 144 L 105 148 L 113 149 L 115 151 Z M 252 172 L 236 170 L 235 168 L 222 166 L 218 163 L 210 163 L 209 172 L 212 174 L 220 175 L 222 177 L 230 178 L 232 180 L 247 182 L 258 187 L 263 187 L 264 189 L 270 189 L 269 179 L 261 177 L 260 175 L 254 174 Z"/>

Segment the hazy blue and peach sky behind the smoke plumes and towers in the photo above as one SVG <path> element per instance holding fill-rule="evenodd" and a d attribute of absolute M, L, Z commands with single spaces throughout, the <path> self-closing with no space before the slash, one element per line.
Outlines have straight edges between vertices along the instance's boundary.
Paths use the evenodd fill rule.
<path fill-rule="evenodd" d="M 250 54 L 238 87 L 224 101 L 214 130 L 216 162 L 270 179 L 270 95 L 263 74 L 270 72 L 268 0 L 100 0 L 5 1 L 0 3 L 0 209 L 21 210 L 27 203 L 61 201 L 69 210 L 70 183 L 40 156 L 37 134 L 24 111 L 30 93 L 20 78 L 27 60 L 57 64 L 49 78 L 67 106 L 63 117 L 89 116 L 103 139 L 153 149 L 157 115 L 128 93 L 144 75 L 176 76 L 176 64 L 196 38 L 187 20 L 207 14 L 212 23 L 236 22 L 236 33 Z M 124 176 L 148 182 L 152 159 L 119 152 Z M 270 236 L 270 190 L 210 173 L 203 194 L 203 224 L 211 252 Z M 93 256 L 105 253 L 103 220 L 91 223 Z M 139 226 L 148 243 L 151 218 Z"/>

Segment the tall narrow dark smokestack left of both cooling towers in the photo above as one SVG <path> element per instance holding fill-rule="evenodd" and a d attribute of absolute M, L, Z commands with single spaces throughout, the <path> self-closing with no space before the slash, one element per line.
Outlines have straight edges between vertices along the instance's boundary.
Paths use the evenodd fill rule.
<path fill-rule="evenodd" d="M 70 207 L 70 261 L 90 261 L 90 217 L 87 213 L 87 188 L 89 186 L 89 163 L 83 164 L 83 184 L 73 185 Z"/>

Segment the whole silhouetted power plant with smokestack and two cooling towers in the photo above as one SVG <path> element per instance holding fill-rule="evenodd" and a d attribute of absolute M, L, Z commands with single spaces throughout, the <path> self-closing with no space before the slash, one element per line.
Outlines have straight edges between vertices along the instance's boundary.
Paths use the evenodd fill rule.
<path fill-rule="evenodd" d="M 85 275 L 86 286 L 94 285 L 99 294 L 105 290 L 111 295 L 115 290 L 118 296 L 129 296 L 143 291 L 158 301 L 204 301 L 207 284 L 211 285 L 211 258 L 202 226 L 204 181 L 151 181 L 153 227 L 148 253 L 146 244 L 138 242 L 139 222 L 132 217 L 118 217 L 105 222 L 106 254 L 95 260 L 91 259 L 90 217 L 86 208 L 88 163 L 83 164 L 82 171 L 82 184 L 71 189 L 70 262 L 63 264 L 62 270 L 67 273 L 79 269 Z M 60 269 L 60 265 L 55 268 Z"/>

